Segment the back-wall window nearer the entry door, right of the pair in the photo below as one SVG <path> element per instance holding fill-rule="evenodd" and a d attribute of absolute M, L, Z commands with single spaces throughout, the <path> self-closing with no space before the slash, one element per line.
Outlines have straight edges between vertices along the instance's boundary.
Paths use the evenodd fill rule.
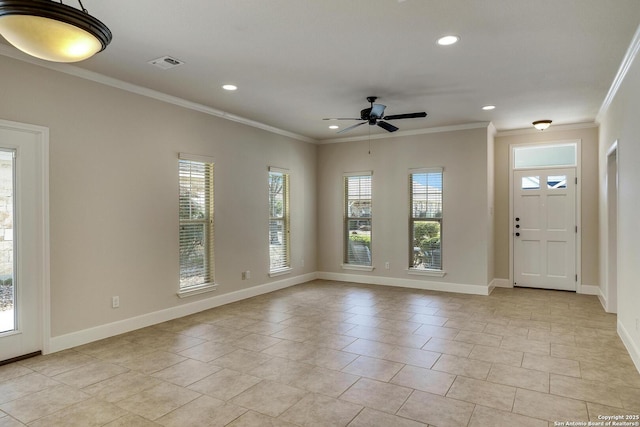
<path fill-rule="evenodd" d="M 442 270 L 442 169 L 409 174 L 409 268 Z"/>

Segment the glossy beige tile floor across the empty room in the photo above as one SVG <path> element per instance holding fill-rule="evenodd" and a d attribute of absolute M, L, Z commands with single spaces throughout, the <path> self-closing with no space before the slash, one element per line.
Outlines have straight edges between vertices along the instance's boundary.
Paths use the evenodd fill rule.
<path fill-rule="evenodd" d="M 636 414 L 640 374 L 616 317 L 596 297 L 532 289 L 318 280 L 0 367 L 0 427 L 554 426 Z"/>

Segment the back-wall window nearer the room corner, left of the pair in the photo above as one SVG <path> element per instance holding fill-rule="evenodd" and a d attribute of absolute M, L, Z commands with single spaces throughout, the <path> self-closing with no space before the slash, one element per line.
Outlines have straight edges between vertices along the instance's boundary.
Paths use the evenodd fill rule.
<path fill-rule="evenodd" d="M 371 172 L 344 177 L 344 264 L 371 266 Z"/>

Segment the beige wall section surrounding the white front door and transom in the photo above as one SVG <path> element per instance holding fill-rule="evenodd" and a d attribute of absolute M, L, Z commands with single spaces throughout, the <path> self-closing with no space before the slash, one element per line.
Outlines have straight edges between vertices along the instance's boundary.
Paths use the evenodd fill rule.
<path fill-rule="evenodd" d="M 573 130 L 525 132 L 495 139 L 495 277 L 509 278 L 509 146 L 511 144 L 552 143 L 580 140 L 582 163 L 581 278 L 583 285 L 598 286 L 599 224 L 598 224 L 598 129 L 588 127 Z"/>

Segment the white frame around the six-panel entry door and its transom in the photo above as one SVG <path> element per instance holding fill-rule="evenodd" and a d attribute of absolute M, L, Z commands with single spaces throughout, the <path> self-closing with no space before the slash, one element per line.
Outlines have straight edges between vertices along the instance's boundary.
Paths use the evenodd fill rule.
<path fill-rule="evenodd" d="M 581 139 L 571 139 L 571 140 L 552 140 L 552 141 L 539 141 L 539 142 L 527 142 L 520 144 L 509 144 L 509 287 L 513 287 L 514 281 L 514 245 L 513 245 L 513 230 L 514 228 L 514 213 L 513 213 L 513 172 L 516 170 L 514 166 L 514 148 L 519 147 L 536 147 L 536 146 L 552 146 L 552 145 L 567 145 L 567 144 L 575 144 L 576 145 L 576 179 L 578 183 L 576 184 L 576 226 L 578 227 L 578 232 L 576 233 L 576 275 L 578 280 L 576 281 L 576 293 L 591 293 L 584 292 L 585 290 L 582 287 L 582 162 L 581 162 L 581 152 L 582 152 L 582 140 Z M 531 167 L 529 169 L 558 169 L 558 168 L 566 168 L 567 166 L 549 166 L 545 167 Z M 524 170 L 525 168 L 519 168 L 517 170 Z"/>

